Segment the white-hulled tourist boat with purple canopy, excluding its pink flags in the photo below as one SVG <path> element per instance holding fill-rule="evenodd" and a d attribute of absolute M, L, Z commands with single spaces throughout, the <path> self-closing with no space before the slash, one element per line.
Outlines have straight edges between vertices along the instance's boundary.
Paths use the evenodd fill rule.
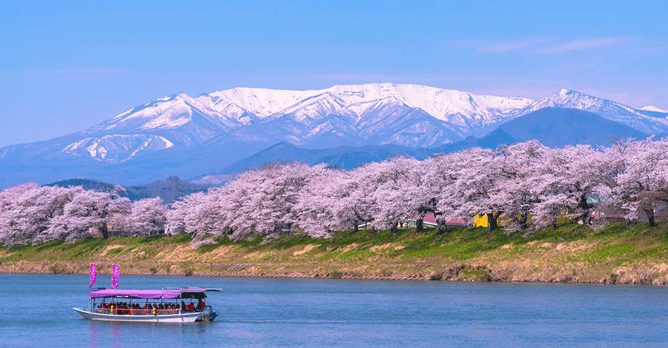
<path fill-rule="evenodd" d="M 161 290 L 97 289 L 88 308 L 72 308 L 82 317 L 109 322 L 211 322 L 216 318 L 205 292 L 221 289 L 165 287 Z M 189 301 L 189 303 L 186 303 Z M 197 304 L 193 303 L 196 301 Z"/>

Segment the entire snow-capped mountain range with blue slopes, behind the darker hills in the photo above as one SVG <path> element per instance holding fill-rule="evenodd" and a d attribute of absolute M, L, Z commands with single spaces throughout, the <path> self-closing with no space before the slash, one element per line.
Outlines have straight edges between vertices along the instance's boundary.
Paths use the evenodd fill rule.
<path fill-rule="evenodd" d="M 534 102 L 409 84 L 234 88 L 197 97 L 170 95 L 79 133 L 1 148 L 0 172 L 20 182 L 39 181 L 22 176 L 26 171 L 49 173 L 51 181 L 117 177 L 122 171 L 132 182 L 145 183 L 175 173 L 216 171 L 283 141 L 312 149 L 434 148 L 484 136 L 548 106 L 591 111 L 641 132 L 668 132 L 668 113 L 660 109 L 633 109 L 566 89 Z"/>

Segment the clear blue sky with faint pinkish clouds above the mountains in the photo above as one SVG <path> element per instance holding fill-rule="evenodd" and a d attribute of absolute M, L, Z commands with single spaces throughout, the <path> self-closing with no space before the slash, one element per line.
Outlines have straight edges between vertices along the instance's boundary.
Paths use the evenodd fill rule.
<path fill-rule="evenodd" d="M 423 84 L 668 109 L 666 1 L 0 0 L 0 147 L 165 95 Z"/>

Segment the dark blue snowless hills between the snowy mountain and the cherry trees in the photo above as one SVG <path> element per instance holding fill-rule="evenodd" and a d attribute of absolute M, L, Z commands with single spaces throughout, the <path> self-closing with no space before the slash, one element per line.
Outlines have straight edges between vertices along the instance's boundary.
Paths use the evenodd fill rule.
<path fill-rule="evenodd" d="M 665 134 L 663 134 L 665 136 Z M 301 161 L 307 164 L 327 164 L 333 168 L 351 170 L 371 161 L 383 161 L 397 155 L 425 159 L 436 153 L 465 150 L 472 147 L 498 148 L 502 144 L 536 139 L 549 147 L 587 144 L 594 147 L 610 145 L 613 139 L 645 139 L 649 134 L 606 120 L 596 113 L 578 109 L 548 107 L 509 120 L 486 136 L 473 136 L 434 148 L 408 148 L 400 145 L 367 145 L 361 147 L 309 150 L 282 142 L 237 161 L 218 174 L 233 175 L 272 162 Z M 660 134 L 661 136 L 661 134 Z"/>

